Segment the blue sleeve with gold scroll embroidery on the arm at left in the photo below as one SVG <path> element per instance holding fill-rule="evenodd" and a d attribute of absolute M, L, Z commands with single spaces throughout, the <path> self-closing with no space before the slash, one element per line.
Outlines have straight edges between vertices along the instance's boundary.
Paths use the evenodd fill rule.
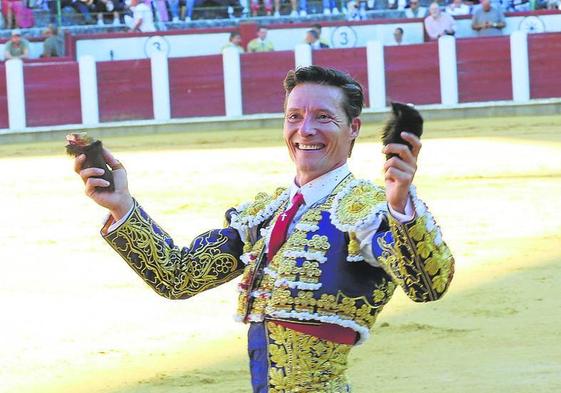
<path fill-rule="evenodd" d="M 104 239 L 163 297 L 186 299 L 226 283 L 243 271 L 243 243 L 238 231 L 230 226 L 205 232 L 190 247 L 180 248 L 137 201 L 127 219 L 107 233 L 111 223 L 109 220 L 102 229 Z"/>

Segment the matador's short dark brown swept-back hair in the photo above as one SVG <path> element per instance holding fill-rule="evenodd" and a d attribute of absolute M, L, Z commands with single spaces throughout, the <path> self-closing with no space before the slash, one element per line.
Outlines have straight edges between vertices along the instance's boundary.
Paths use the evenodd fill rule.
<path fill-rule="evenodd" d="M 285 110 L 288 95 L 296 86 L 303 83 L 340 87 L 345 97 L 342 106 L 349 123 L 355 117 L 360 116 L 364 105 L 364 96 L 360 83 L 348 74 L 334 68 L 324 68 L 315 65 L 288 71 L 286 78 L 284 78 L 284 90 L 286 92 L 284 98 Z"/>

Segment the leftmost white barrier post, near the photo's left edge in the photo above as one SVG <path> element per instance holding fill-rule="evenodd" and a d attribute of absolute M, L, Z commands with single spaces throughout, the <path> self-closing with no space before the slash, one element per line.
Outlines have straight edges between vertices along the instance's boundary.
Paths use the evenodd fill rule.
<path fill-rule="evenodd" d="M 6 93 L 8 95 L 8 124 L 12 130 L 25 128 L 25 89 L 23 62 L 11 59 L 6 62 Z"/>

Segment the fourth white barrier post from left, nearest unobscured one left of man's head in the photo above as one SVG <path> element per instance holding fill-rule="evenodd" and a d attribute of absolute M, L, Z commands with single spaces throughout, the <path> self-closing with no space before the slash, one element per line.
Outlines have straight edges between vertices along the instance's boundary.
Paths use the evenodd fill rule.
<path fill-rule="evenodd" d="M 222 53 L 222 67 L 224 70 L 224 102 L 226 116 L 236 117 L 242 111 L 242 77 L 240 67 L 240 52 L 237 48 L 226 48 Z"/>

